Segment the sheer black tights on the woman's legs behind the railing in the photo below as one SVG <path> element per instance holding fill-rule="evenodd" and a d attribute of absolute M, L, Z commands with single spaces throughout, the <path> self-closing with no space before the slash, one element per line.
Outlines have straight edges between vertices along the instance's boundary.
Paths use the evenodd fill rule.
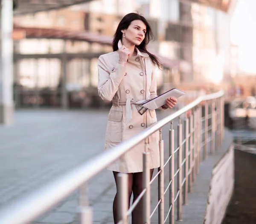
<path fill-rule="evenodd" d="M 153 176 L 154 169 L 150 170 L 150 179 Z M 116 189 L 117 189 L 117 174 L 119 172 L 113 171 L 114 178 L 116 181 Z M 140 193 L 143 191 L 143 172 L 139 173 L 127 173 L 128 174 L 128 207 L 130 207 L 130 201 L 131 201 L 131 193 L 133 193 L 133 202 L 136 200 L 136 198 L 140 195 Z M 116 190 L 117 191 L 117 190 Z M 113 201 L 113 216 L 114 216 L 114 223 L 117 224 L 119 222 L 117 217 L 117 194 Z M 134 208 L 133 212 L 131 213 L 131 220 L 132 224 L 142 224 L 143 218 L 142 218 L 142 199 L 137 204 L 137 206 Z"/>

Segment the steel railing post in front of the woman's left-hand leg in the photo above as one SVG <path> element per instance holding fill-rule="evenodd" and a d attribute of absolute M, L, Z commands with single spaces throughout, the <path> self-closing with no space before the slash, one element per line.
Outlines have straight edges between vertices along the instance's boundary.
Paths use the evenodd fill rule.
<path fill-rule="evenodd" d="M 117 175 L 117 204 L 118 204 L 118 220 L 122 220 L 122 224 L 128 223 L 128 175 L 127 173 L 118 173 Z"/>

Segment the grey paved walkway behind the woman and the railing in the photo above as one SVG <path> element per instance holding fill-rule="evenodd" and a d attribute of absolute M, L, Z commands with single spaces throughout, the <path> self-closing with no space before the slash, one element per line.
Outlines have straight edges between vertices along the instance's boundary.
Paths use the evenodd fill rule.
<path fill-rule="evenodd" d="M 171 112 L 159 111 L 157 117 L 161 119 L 168 113 Z M 107 120 L 107 110 L 17 111 L 15 125 L 0 126 L 0 207 L 101 153 Z M 169 128 L 163 128 L 166 150 Z M 165 157 L 166 160 L 168 153 Z M 116 191 L 113 174 L 104 170 L 88 184 L 94 223 L 113 223 Z M 151 195 L 152 211 L 157 204 L 157 179 L 152 184 Z M 33 223 L 77 224 L 78 203 L 78 192 L 75 192 Z M 157 223 L 157 213 L 151 223 Z"/>

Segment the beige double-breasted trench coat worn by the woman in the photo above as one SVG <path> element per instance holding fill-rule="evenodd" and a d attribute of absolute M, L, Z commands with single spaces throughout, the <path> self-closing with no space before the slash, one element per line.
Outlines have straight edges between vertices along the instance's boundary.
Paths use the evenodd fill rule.
<path fill-rule="evenodd" d="M 122 46 L 119 41 L 119 48 Z M 119 51 L 103 54 L 98 60 L 99 96 L 106 102 L 112 99 L 133 99 L 141 101 L 157 96 L 155 66 L 148 54 L 137 48 L 136 57 L 130 57 L 126 67 L 119 64 Z M 146 69 L 146 72 L 145 72 Z M 146 73 L 146 74 L 145 74 Z M 105 136 L 105 150 L 131 138 L 157 122 L 154 110 L 147 110 L 143 115 L 138 112 L 138 105 L 131 104 L 132 119 L 127 120 L 127 105 L 112 106 L 108 115 L 108 125 Z M 143 171 L 143 152 L 147 147 L 150 152 L 149 167 L 160 166 L 159 133 L 149 136 L 145 141 L 124 155 L 124 161 L 118 159 L 108 167 L 108 170 L 136 173 Z"/>

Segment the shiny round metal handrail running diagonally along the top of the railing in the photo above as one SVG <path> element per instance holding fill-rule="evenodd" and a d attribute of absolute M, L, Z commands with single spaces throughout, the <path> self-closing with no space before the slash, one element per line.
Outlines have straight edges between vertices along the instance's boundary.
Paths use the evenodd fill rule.
<path fill-rule="evenodd" d="M 120 143 L 110 150 L 106 150 L 93 159 L 73 169 L 67 174 L 59 177 L 55 181 L 44 185 L 38 190 L 30 193 L 23 198 L 17 199 L 13 203 L 0 210 L 1 224 L 25 224 L 34 220 L 65 197 L 69 196 L 74 190 L 78 189 L 84 182 L 95 176 L 97 173 L 108 167 L 109 164 L 128 152 L 132 147 L 139 144 L 143 139 L 156 132 L 164 125 L 179 117 L 186 111 L 191 110 L 200 102 L 205 100 L 217 99 L 224 95 L 224 91 L 199 96 L 193 102 L 184 106 L 177 112 L 166 116 L 150 128 Z"/>

